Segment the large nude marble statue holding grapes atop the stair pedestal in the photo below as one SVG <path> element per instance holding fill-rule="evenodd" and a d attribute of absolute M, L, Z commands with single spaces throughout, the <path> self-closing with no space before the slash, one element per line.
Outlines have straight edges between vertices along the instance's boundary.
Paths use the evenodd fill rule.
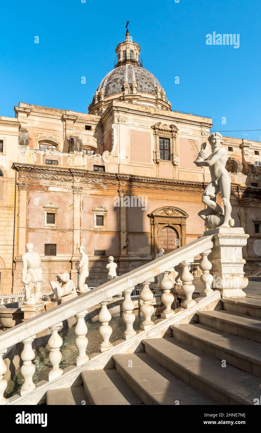
<path fill-rule="evenodd" d="M 198 215 L 205 221 L 207 229 L 217 227 L 233 227 L 234 220 L 231 218 L 230 204 L 230 185 L 231 178 L 225 168 L 227 162 L 227 152 L 221 146 L 222 135 L 213 132 L 209 136 L 212 153 L 206 157 L 205 143 L 198 158 L 194 161 L 197 167 L 209 167 L 211 182 L 207 185 L 202 195 L 202 202 L 206 204 L 206 209 L 201 210 Z M 217 204 L 217 195 L 221 194 L 224 210 Z"/>

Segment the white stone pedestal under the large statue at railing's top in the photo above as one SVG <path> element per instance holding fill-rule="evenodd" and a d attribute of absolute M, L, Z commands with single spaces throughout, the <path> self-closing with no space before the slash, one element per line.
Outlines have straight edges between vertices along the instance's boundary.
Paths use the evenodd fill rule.
<path fill-rule="evenodd" d="M 214 246 L 208 256 L 212 264 L 213 290 L 219 290 L 222 298 L 245 297 L 243 291 L 248 285 L 244 272 L 245 260 L 242 248 L 247 244 L 248 234 L 242 227 L 217 228 L 204 232 L 213 234 Z"/>

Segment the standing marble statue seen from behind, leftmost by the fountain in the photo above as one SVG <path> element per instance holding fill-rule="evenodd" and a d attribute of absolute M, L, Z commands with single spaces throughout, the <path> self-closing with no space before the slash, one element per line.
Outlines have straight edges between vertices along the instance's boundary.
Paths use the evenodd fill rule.
<path fill-rule="evenodd" d="M 33 251 L 33 244 L 26 244 L 26 252 L 22 255 L 22 283 L 25 291 L 24 304 L 42 304 L 42 268 L 41 259 L 37 252 Z"/>

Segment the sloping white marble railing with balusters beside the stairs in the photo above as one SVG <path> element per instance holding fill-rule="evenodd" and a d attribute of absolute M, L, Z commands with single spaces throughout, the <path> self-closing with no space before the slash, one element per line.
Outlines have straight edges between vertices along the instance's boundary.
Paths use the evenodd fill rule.
<path fill-rule="evenodd" d="M 140 311 L 144 316 L 144 321 L 141 323 L 140 329 L 145 331 L 155 324 L 151 320 L 154 307 L 152 304 L 153 293 L 150 290 L 150 283 L 154 281 L 154 277 L 157 275 L 163 274 L 163 278 L 160 281 L 160 287 L 163 291 L 161 301 L 165 307 L 161 313 L 162 320 L 174 314 L 174 310 L 171 308 L 174 301 L 174 295 L 172 293 L 173 278 L 170 278 L 170 275 L 173 275 L 174 267 L 176 267 L 176 270 L 179 272 L 176 277 L 176 282 L 179 284 L 179 288 L 184 297 L 181 307 L 186 309 L 196 304 L 196 301 L 192 299 L 192 294 L 195 291 L 195 287 L 192 284 L 194 277 L 189 272 L 193 257 L 196 255 L 201 255 L 202 257 L 200 262 L 200 268 L 203 272 L 201 281 L 204 284 L 202 296 L 211 294 L 213 291 L 210 288 L 210 284 L 213 277 L 209 274 L 211 263 L 208 260 L 208 255 L 213 247 L 212 238 L 212 235 L 202 236 L 186 246 L 170 252 L 159 259 L 153 260 L 134 271 L 121 275 L 112 281 L 108 281 L 98 288 L 88 291 L 85 294 L 73 298 L 71 301 L 67 301 L 64 304 L 5 331 L 0 336 L 0 404 L 7 403 L 4 397 L 4 392 L 7 387 L 4 374 L 7 370 L 7 366 L 3 357 L 10 346 L 14 346 L 19 342 L 23 343 L 23 351 L 21 353 L 23 365 L 21 367 L 21 373 L 24 377 L 24 383 L 20 391 L 21 395 L 23 395 L 32 392 L 36 388 L 36 384 L 33 382 L 35 365 L 32 361 L 35 357 L 35 353 L 32 349 L 32 343 L 37 333 L 45 331 L 46 329 L 51 330 L 48 344 L 50 347 L 49 360 L 52 368 L 49 371 L 48 379 L 52 381 L 63 374 L 63 370 L 60 368 L 62 358 L 60 347 L 63 341 L 58 333 L 63 320 L 69 319 L 72 316 L 75 316 L 77 319 L 75 326 L 75 346 L 78 349 L 78 355 L 75 359 L 75 365 L 79 366 L 89 361 L 89 357 L 86 353 L 88 339 L 86 337 L 87 326 L 85 324 L 85 315 L 88 312 L 88 308 L 97 304 L 101 305 L 101 310 L 98 314 L 98 320 L 101 322 L 99 330 L 102 336 L 100 352 L 105 352 L 113 346 L 113 343 L 110 342 L 112 333 L 112 328 L 109 325 L 111 313 L 107 308 L 107 304 L 113 296 L 122 293 L 124 297 L 122 309 L 124 310 L 123 320 L 126 324 L 126 329 L 123 334 L 123 339 L 127 340 L 137 334 L 133 328 L 135 314 L 133 313 L 134 302 L 131 299 L 131 294 L 138 284 L 140 285 Z"/>

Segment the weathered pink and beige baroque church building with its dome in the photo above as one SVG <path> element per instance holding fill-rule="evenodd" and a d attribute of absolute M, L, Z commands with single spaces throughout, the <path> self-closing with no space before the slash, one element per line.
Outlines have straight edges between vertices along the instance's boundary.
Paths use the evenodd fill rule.
<path fill-rule="evenodd" d="M 198 217 L 209 170 L 193 164 L 209 117 L 173 111 L 166 92 L 126 38 L 87 113 L 19 103 L 0 116 L 0 294 L 19 293 L 21 255 L 31 242 L 42 288 L 57 273 L 77 282 L 78 247 L 89 256 L 88 284 L 106 281 L 185 245 L 205 228 Z M 261 142 L 223 137 L 232 217 L 250 235 L 245 272 L 261 267 Z M 221 200 L 219 198 L 219 200 Z"/>

